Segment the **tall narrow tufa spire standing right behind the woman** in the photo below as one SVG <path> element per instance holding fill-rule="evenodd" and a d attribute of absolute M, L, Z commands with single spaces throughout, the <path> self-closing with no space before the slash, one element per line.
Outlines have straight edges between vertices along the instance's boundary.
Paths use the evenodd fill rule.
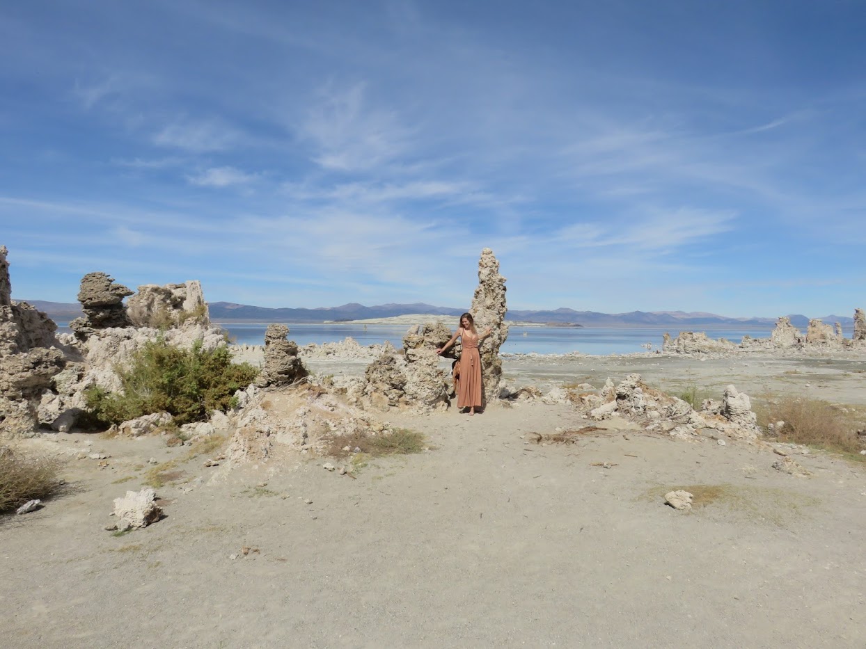
<path fill-rule="evenodd" d="M 499 260 L 494 257 L 493 250 L 486 247 L 481 250 L 481 260 L 478 261 L 478 286 L 469 310 L 475 318 L 475 328 L 485 331 L 490 328 L 489 337 L 481 341 L 481 385 L 482 399 L 485 405 L 499 398 L 502 377 L 502 358 L 499 350 L 508 337 L 508 325 L 505 322 L 507 305 L 505 299 L 506 279 L 499 273 Z"/>

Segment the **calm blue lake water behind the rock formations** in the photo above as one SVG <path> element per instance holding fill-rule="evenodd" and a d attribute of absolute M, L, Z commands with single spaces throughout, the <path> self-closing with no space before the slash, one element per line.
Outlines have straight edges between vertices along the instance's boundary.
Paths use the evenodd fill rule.
<path fill-rule="evenodd" d="M 58 322 L 59 331 L 69 331 L 68 323 Z M 214 323 L 229 333 L 236 344 L 264 344 L 266 323 Z M 403 346 L 403 337 L 409 326 L 406 324 L 290 324 L 288 337 L 303 346 L 315 343 L 335 343 L 352 337 L 361 345 L 383 344 L 390 341 L 398 349 Z M 678 329 L 655 329 L 635 327 L 620 328 L 572 328 L 572 327 L 520 327 L 512 326 L 508 339 L 502 345 L 503 354 L 581 354 L 607 356 L 609 354 L 632 354 L 647 351 L 644 344 L 652 344 L 652 350 L 662 348 L 662 336 L 668 331 L 672 337 Z M 711 338 L 725 337 L 740 343 L 743 336 L 753 338 L 770 337 L 772 329 L 695 329 L 704 331 Z M 850 331 L 844 331 L 846 337 Z"/>

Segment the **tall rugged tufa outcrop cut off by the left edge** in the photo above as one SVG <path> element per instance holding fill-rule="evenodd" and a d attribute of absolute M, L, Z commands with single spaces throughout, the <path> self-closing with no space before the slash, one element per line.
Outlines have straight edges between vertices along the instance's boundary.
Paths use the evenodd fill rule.
<path fill-rule="evenodd" d="M 11 298 L 8 250 L 0 246 L 0 435 L 30 436 L 39 425 L 42 395 L 66 365 L 57 325 Z"/>

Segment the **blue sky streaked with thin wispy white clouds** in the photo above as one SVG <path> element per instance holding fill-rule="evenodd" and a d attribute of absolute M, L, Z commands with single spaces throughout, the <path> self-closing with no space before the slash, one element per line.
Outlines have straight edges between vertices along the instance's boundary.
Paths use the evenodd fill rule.
<path fill-rule="evenodd" d="M 850 315 L 866 3 L 0 5 L 13 297 Z"/>

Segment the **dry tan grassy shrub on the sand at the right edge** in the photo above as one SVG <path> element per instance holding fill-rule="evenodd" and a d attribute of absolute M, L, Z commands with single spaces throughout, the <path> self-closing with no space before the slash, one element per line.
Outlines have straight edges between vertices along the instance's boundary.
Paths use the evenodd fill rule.
<path fill-rule="evenodd" d="M 785 422 L 781 430 L 775 431 L 779 441 L 843 453 L 859 453 L 863 448 L 856 434 L 858 416 L 850 408 L 818 399 L 787 397 L 768 402 L 759 415 L 764 425 Z"/>

